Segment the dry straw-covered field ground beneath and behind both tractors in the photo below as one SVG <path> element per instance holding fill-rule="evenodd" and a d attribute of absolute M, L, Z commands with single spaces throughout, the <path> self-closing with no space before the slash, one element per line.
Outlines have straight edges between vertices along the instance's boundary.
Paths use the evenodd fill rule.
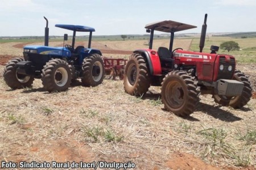
<path fill-rule="evenodd" d="M 191 42 L 176 40 L 174 48 L 189 49 Z M 129 51 L 147 48 L 145 43 L 97 41 L 92 46 L 105 50 L 106 57 L 127 58 Z M 167 40 L 154 43 L 154 49 L 168 46 Z M 135 169 L 256 168 L 256 99 L 233 109 L 201 95 L 197 110 L 181 118 L 164 109 L 160 87 L 134 97 L 124 92 L 121 80 L 104 79 L 97 87 L 83 87 L 77 80 L 68 91 L 49 94 L 36 79 L 32 88 L 11 90 L 2 77 L 4 63 L 22 56 L 24 45 L 0 44 L 1 161 L 132 162 Z M 256 64 L 237 67 L 250 76 L 256 91 Z"/>

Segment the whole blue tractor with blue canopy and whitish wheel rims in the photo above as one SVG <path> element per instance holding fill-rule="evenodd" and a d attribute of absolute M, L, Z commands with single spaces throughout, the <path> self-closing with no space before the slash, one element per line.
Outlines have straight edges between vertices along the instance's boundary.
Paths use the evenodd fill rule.
<path fill-rule="evenodd" d="M 72 45 L 64 45 L 68 35 L 64 35 L 63 46 L 48 46 L 49 28 L 46 19 L 44 46 L 24 46 L 24 58 L 11 59 L 4 70 L 6 84 L 13 88 L 30 87 L 35 78 L 42 79 L 48 92 L 65 91 L 72 80 L 81 79 L 84 86 L 97 86 L 104 78 L 105 68 L 102 54 L 90 48 L 92 27 L 82 25 L 56 24 L 55 27 L 73 31 Z M 89 32 L 88 48 L 76 46 L 76 32 Z"/>

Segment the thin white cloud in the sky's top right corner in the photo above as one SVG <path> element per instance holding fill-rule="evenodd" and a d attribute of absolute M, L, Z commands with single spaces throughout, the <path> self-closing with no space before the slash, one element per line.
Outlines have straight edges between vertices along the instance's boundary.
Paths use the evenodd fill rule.
<path fill-rule="evenodd" d="M 225 6 L 256 6 L 255 0 L 216 0 L 216 5 L 225 5 Z"/>

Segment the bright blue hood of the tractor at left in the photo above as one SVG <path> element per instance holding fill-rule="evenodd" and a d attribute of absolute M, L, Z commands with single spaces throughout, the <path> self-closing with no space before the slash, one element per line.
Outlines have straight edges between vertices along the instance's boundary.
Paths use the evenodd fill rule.
<path fill-rule="evenodd" d="M 42 45 L 28 45 L 24 47 L 24 53 L 37 53 L 37 54 L 46 54 L 54 56 L 71 56 L 71 52 L 61 47 L 50 47 Z"/>

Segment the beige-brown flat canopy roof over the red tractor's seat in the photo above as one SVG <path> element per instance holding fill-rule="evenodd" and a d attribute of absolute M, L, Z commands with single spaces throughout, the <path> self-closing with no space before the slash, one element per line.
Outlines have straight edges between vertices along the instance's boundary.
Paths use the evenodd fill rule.
<path fill-rule="evenodd" d="M 156 31 L 162 32 L 177 32 L 186 29 L 196 28 L 194 25 L 174 22 L 172 20 L 164 20 L 162 22 L 150 23 L 145 26 L 146 29 L 153 29 L 155 27 Z"/>

